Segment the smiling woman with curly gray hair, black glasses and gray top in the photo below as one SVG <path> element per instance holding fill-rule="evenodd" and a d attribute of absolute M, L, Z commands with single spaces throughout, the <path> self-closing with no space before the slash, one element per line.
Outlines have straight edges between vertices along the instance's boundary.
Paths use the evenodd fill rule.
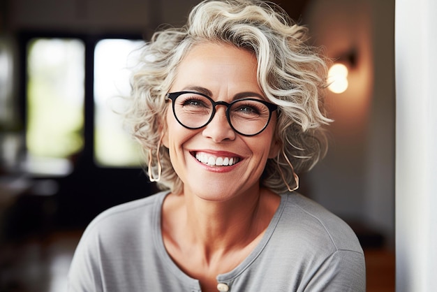
<path fill-rule="evenodd" d="M 326 143 L 326 66 L 262 1 L 205 1 L 157 32 L 126 113 L 163 191 L 85 231 L 70 291 L 364 291 L 353 231 L 297 194 Z"/>

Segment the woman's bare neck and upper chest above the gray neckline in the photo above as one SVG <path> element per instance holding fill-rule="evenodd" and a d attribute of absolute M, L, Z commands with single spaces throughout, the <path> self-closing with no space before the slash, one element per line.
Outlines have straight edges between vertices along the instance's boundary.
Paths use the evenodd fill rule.
<path fill-rule="evenodd" d="M 163 241 L 173 261 L 202 289 L 216 291 L 216 275 L 228 272 L 260 242 L 280 197 L 267 189 L 230 200 L 209 201 L 184 191 L 165 198 Z"/>

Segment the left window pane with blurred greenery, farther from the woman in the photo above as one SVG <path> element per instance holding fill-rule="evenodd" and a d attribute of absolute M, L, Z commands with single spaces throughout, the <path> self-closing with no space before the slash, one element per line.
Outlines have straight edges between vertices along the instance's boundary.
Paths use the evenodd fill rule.
<path fill-rule="evenodd" d="M 30 41 L 27 73 L 30 171 L 66 174 L 68 159 L 84 145 L 84 43 L 67 38 Z"/>

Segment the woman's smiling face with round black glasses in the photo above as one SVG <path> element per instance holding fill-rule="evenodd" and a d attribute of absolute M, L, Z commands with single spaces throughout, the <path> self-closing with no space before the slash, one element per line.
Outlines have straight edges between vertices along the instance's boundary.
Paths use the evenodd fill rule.
<path fill-rule="evenodd" d="M 180 105 L 181 96 L 172 102 L 175 110 L 167 111 L 163 145 L 169 149 L 170 161 L 177 177 L 183 182 L 184 194 L 189 188 L 190 192 L 207 200 L 230 200 L 235 196 L 248 200 L 251 196 L 243 194 L 259 193 L 257 182 L 264 170 L 260 165 L 265 165 L 267 159 L 277 155 L 279 142 L 274 140 L 276 111 L 272 112 L 268 107 L 271 105 L 274 110 L 276 105 L 267 103 L 262 97 L 264 94 L 256 78 L 256 64 L 253 53 L 218 43 L 195 45 L 179 64 L 178 70 L 184 74 L 176 75 L 170 92 L 202 87 L 212 95 L 212 98 L 198 98 L 197 101 L 205 103 L 202 113 L 195 112 L 196 117 L 186 117 L 188 105 Z M 190 96 L 189 100 L 193 101 L 193 94 Z M 239 103 L 246 108 L 248 103 L 252 104 L 253 110 L 258 107 L 264 113 L 256 117 L 244 113 L 242 117 L 241 111 L 235 113 L 235 105 Z M 205 112 L 205 108 L 210 110 Z M 271 114 L 274 118 L 269 122 Z M 196 127 L 184 125 L 184 122 L 198 122 L 198 118 L 203 121 Z M 208 157 L 208 161 L 215 161 L 222 152 L 227 152 L 228 159 L 238 163 L 219 168 L 193 159 L 196 154 L 202 154 Z M 240 180 L 229 184 L 234 177 L 240 177 Z M 205 192 L 205 189 L 209 191 Z"/>

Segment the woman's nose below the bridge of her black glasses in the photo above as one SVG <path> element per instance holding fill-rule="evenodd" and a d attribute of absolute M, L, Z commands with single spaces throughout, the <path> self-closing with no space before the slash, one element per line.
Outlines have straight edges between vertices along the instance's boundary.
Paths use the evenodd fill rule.
<path fill-rule="evenodd" d="M 202 135 L 211 138 L 215 143 L 221 143 L 224 140 L 234 140 L 236 133 L 230 127 L 228 119 L 226 118 L 226 107 L 217 105 L 216 113 L 212 121 L 205 126 Z"/>

